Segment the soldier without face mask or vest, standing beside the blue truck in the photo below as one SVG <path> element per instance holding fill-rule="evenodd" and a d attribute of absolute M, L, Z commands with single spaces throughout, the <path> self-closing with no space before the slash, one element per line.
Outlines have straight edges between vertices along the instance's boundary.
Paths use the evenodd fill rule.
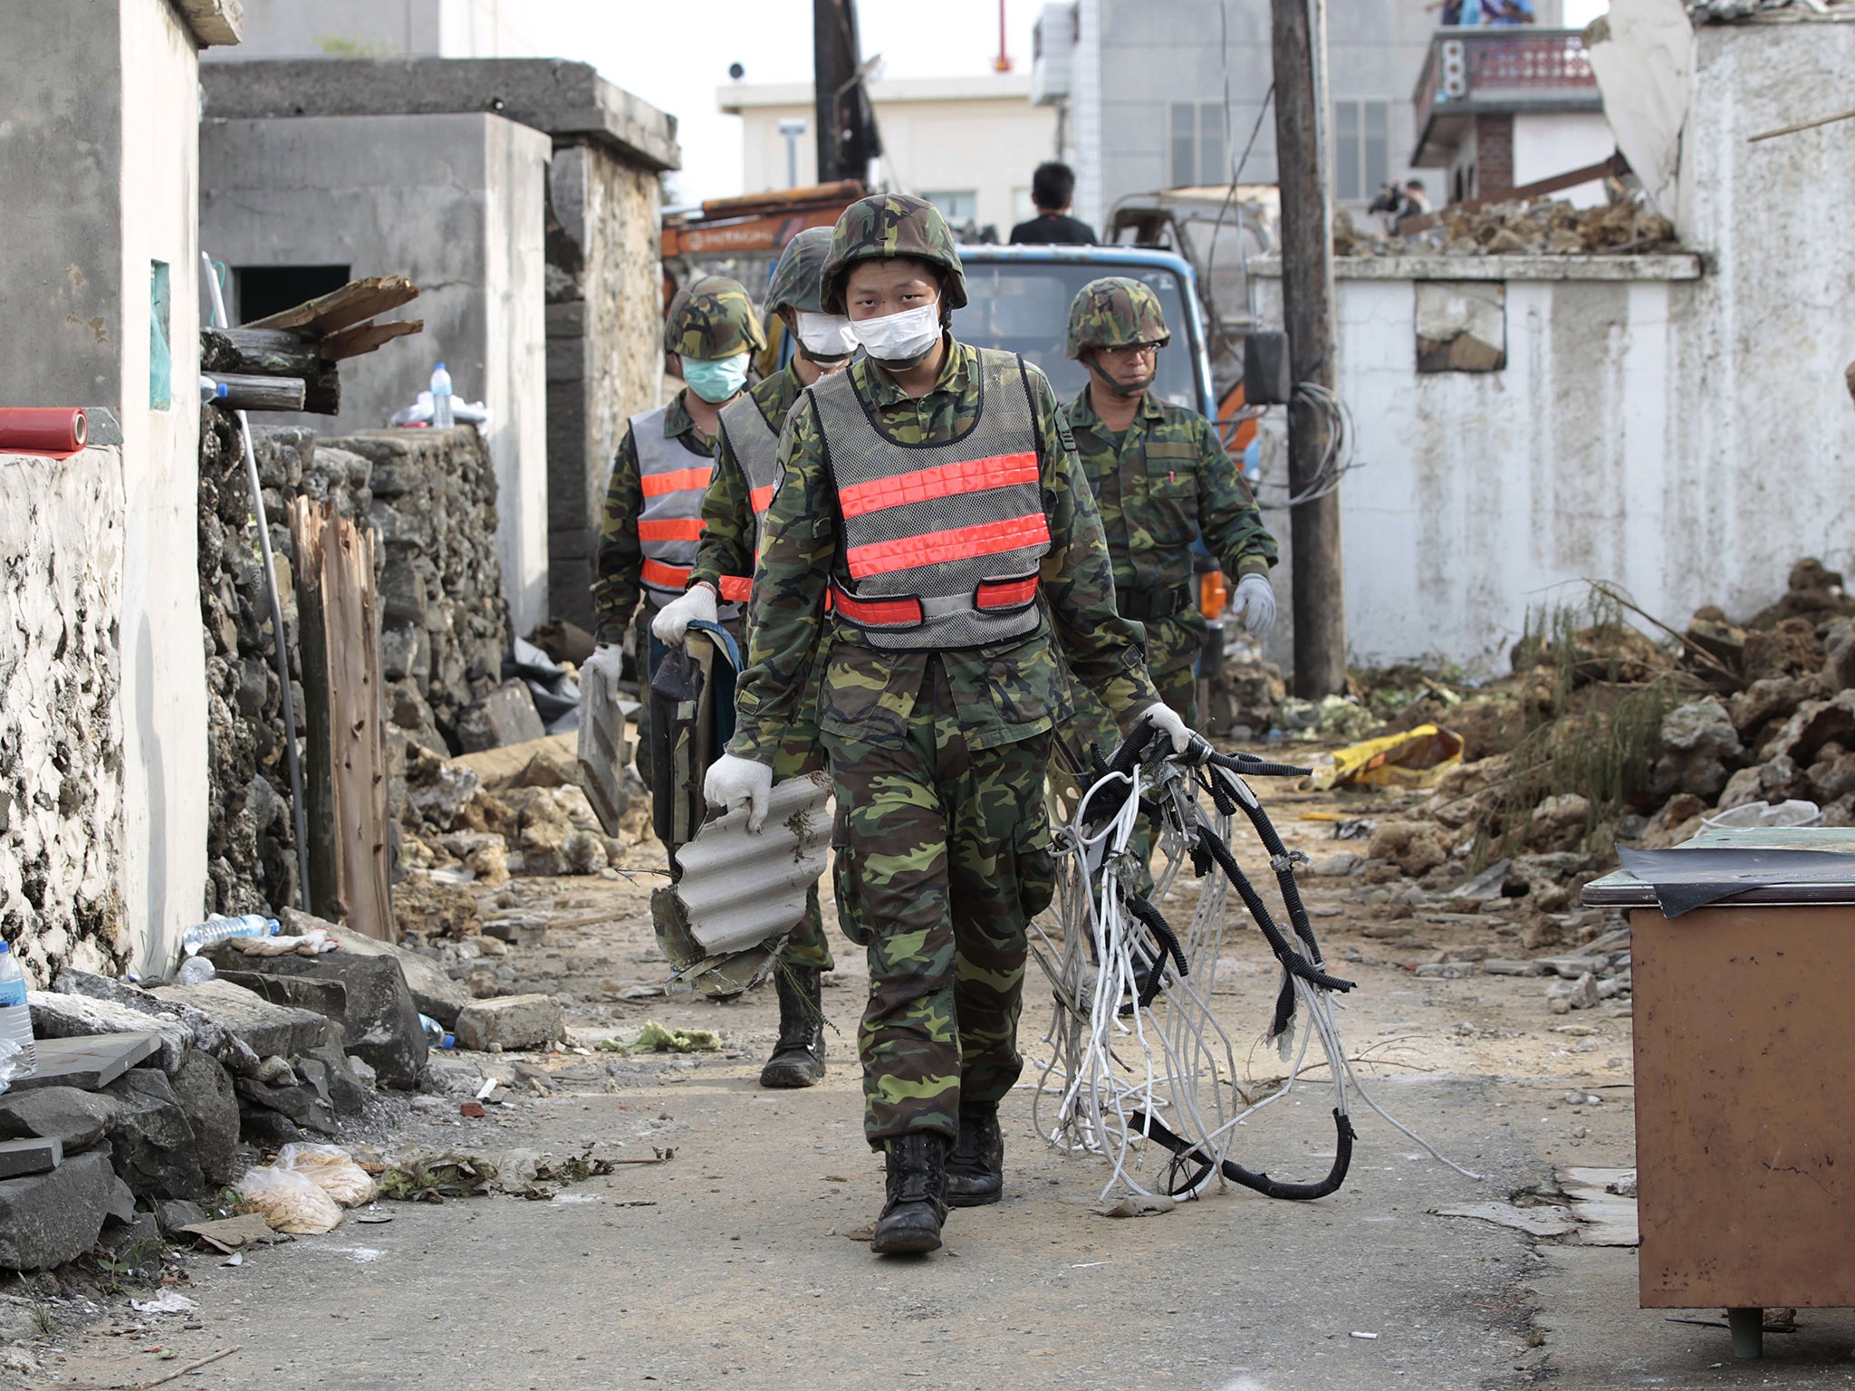
<path fill-rule="evenodd" d="M 1196 664 L 1208 629 L 1193 592 L 1193 542 L 1202 538 L 1235 584 L 1234 603 L 1252 638 L 1274 621 L 1269 568 L 1276 543 L 1217 428 L 1146 389 L 1171 338 L 1148 286 L 1128 276 L 1085 284 L 1070 304 L 1065 352 L 1089 369 L 1089 386 L 1067 415 L 1102 512 L 1115 608 L 1143 627 L 1159 697 L 1196 727 Z M 1102 757 L 1117 740 L 1107 710 L 1083 690 L 1067 733 Z M 1152 827 L 1145 818 L 1130 849 L 1146 862 Z M 1143 875 L 1139 892 L 1150 888 L 1152 877 Z"/>

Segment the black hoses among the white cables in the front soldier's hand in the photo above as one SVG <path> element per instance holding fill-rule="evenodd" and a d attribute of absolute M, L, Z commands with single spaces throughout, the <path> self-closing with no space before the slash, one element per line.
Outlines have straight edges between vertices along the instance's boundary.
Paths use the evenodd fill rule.
<path fill-rule="evenodd" d="M 1113 759 L 1102 760 L 1102 755 L 1091 749 L 1091 760 L 1094 764 L 1096 783 L 1102 779 L 1113 779 L 1106 786 L 1098 786 L 1089 798 L 1089 816 L 1085 820 L 1085 829 L 1093 835 L 1100 831 L 1107 822 L 1111 822 L 1120 809 L 1126 805 L 1128 796 L 1133 790 L 1132 773 L 1141 762 L 1159 762 L 1167 757 L 1178 759 L 1182 764 L 1193 770 L 1193 777 L 1206 792 L 1209 792 L 1213 805 L 1224 816 L 1235 816 L 1237 809 L 1248 818 L 1256 831 L 1256 838 L 1261 840 L 1263 849 L 1269 851 L 1269 866 L 1274 870 L 1276 885 L 1282 892 L 1282 901 L 1287 905 L 1287 918 L 1295 937 L 1300 938 L 1306 951 L 1297 951 L 1295 946 L 1276 925 L 1274 916 L 1269 912 L 1269 905 L 1263 903 L 1261 894 L 1243 874 L 1235 857 L 1230 853 L 1230 846 L 1211 829 L 1211 825 L 1198 816 L 1198 823 L 1191 827 L 1178 827 L 1178 831 L 1191 844 L 1191 868 L 1202 879 L 1211 872 L 1213 866 L 1224 872 L 1235 887 L 1237 896 L 1243 900 L 1243 907 L 1248 909 L 1250 918 L 1261 929 L 1263 940 L 1269 942 L 1269 950 L 1274 951 L 1276 961 L 1282 963 L 1282 990 L 1276 996 L 1276 1013 L 1269 1027 L 1269 1037 L 1278 1037 L 1287 1029 L 1295 1016 L 1295 979 L 1306 981 L 1310 987 L 1321 990 L 1350 990 L 1352 981 L 1343 981 L 1337 976 L 1330 976 L 1321 961 L 1321 946 L 1313 938 L 1313 925 L 1308 920 L 1308 909 L 1300 901 L 1300 887 L 1295 883 L 1295 862 L 1282 844 L 1282 836 L 1276 833 L 1274 823 L 1269 820 L 1269 812 L 1263 810 L 1261 803 L 1248 794 L 1248 788 L 1241 783 L 1243 777 L 1306 777 L 1308 768 L 1295 768 L 1291 764 L 1267 762 L 1248 753 L 1217 753 L 1211 746 L 1193 736 L 1191 747 L 1174 755 L 1163 744 L 1161 731 L 1152 725 L 1139 725 L 1120 747 L 1115 749 Z M 1221 773 L 1234 773 L 1235 777 L 1222 777 Z M 1165 816 L 1167 809 L 1158 801 L 1145 801 L 1145 812 L 1150 816 Z M 1185 953 L 1180 948 L 1178 933 L 1167 924 L 1165 916 L 1150 901 L 1139 894 L 1126 894 L 1126 909 L 1132 918 L 1146 927 L 1154 935 L 1154 944 L 1158 955 L 1145 972 L 1145 979 L 1139 987 L 1139 1005 L 1146 1009 L 1159 994 L 1161 977 L 1165 974 L 1165 963 L 1171 957 L 1180 976 L 1189 974 L 1189 964 Z M 1128 1013 L 1132 1005 L 1124 1007 Z M 1174 1181 L 1169 1183 L 1169 1193 L 1191 1193 L 1195 1191 L 1217 1165 L 1217 1159 L 1206 1154 L 1202 1148 L 1172 1133 L 1158 1117 L 1146 1115 L 1145 1111 L 1130 1111 L 1128 1126 L 1146 1139 L 1158 1141 L 1167 1150 L 1172 1152 L 1172 1176 Z M 1330 1193 L 1337 1193 L 1339 1185 L 1347 1181 L 1347 1168 L 1352 1163 L 1352 1120 L 1334 1107 L 1334 1163 L 1328 1168 L 1326 1178 L 1315 1183 L 1284 1183 L 1282 1180 L 1269 1178 L 1269 1174 L 1260 1170 L 1245 1168 L 1234 1159 L 1224 1159 L 1217 1168 L 1232 1183 L 1241 1183 L 1247 1189 L 1261 1193 L 1265 1198 L 1289 1198 L 1306 1202 L 1308 1198 L 1324 1198 Z"/>

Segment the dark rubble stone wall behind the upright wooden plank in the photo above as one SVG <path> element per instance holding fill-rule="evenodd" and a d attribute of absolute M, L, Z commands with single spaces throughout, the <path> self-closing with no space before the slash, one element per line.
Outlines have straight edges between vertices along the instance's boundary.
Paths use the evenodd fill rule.
<path fill-rule="evenodd" d="M 456 721 L 493 690 L 508 649 L 495 562 L 495 473 L 471 428 L 373 430 L 317 440 L 256 427 L 271 547 L 284 590 L 297 721 L 302 690 L 289 501 L 334 499 L 377 532 L 380 658 L 388 716 L 406 738 L 454 751 Z M 208 909 L 276 911 L 295 901 L 297 861 L 284 718 L 237 423 L 206 410 L 200 447 L 200 614 L 208 644 Z"/>

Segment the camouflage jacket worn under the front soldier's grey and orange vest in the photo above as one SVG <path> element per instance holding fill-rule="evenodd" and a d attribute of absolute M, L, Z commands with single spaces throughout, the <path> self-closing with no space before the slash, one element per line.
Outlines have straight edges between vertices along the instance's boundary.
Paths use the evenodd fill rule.
<path fill-rule="evenodd" d="M 924 397 L 905 395 L 868 360 L 848 371 L 892 440 L 937 443 L 966 430 L 979 406 L 978 352 L 948 338 L 946 365 Z M 1030 371 L 1043 467 L 1050 553 L 1043 558 L 1044 621 L 1030 638 L 946 653 L 877 651 L 863 632 L 824 612 L 829 579 L 850 582 L 838 512 L 816 412 L 787 419 L 779 440 L 783 480 L 764 519 L 748 614 L 748 671 L 735 690 L 733 753 L 772 760 L 781 731 L 800 718 L 805 664 L 825 629 L 818 725 L 870 744 L 900 746 L 931 660 L 946 668 L 968 747 L 1013 744 L 1067 718 L 1063 660 L 1107 708 L 1130 721 L 1158 701 L 1139 631 L 1113 608 L 1113 573 L 1094 497 L 1048 378 Z"/>

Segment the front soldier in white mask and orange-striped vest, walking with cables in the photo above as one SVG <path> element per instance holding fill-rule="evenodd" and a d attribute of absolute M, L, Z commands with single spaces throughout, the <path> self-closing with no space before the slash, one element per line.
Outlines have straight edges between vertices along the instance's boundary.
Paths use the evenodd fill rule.
<path fill-rule="evenodd" d="M 787 417 L 736 733 L 709 773 L 710 801 L 764 816 L 822 649 L 838 918 L 870 961 L 859 1052 L 864 1135 L 889 1165 L 879 1254 L 935 1250 L 950 1204 L 1002 1191 L 1024 929 L 1055 877 L 1043 783 L 1063 662 L 1124 725 L 1187 738 L 1113 612 L 1055 393 L 1015 354 L 946 332 L 965 300 L 931 204 L 876 195 L 838 219 L 822 304 L 848 310 L 868 356 Z"/>

